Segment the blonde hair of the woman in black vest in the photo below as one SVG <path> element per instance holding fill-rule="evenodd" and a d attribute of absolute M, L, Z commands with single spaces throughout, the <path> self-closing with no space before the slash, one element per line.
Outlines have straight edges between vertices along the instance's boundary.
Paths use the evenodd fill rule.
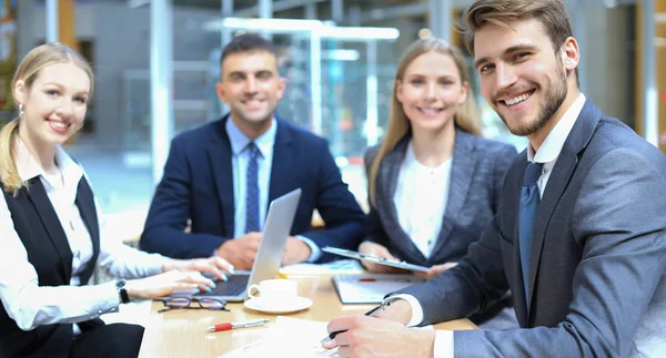
<path fill-rule="evenodd" d="M 62 43 L 47 43 L 32 49 L 19 64 L 11 81 L 12 95 L 18 81 L 26 83 L 28 93 L 40 71 L 47 67 L 58 63 L 74 63 L 81 68 L 90 78 L 90 95 L 92 95 L 93 74 L 88 61 L 72 48 Z M 4 191 L 16 195 L 21 187 L 27 186 L 16 164 L 16 136 L 19 132 L 21 113 L 13 121 L 7 123 L 0 130 L 0 183 Z"/>

